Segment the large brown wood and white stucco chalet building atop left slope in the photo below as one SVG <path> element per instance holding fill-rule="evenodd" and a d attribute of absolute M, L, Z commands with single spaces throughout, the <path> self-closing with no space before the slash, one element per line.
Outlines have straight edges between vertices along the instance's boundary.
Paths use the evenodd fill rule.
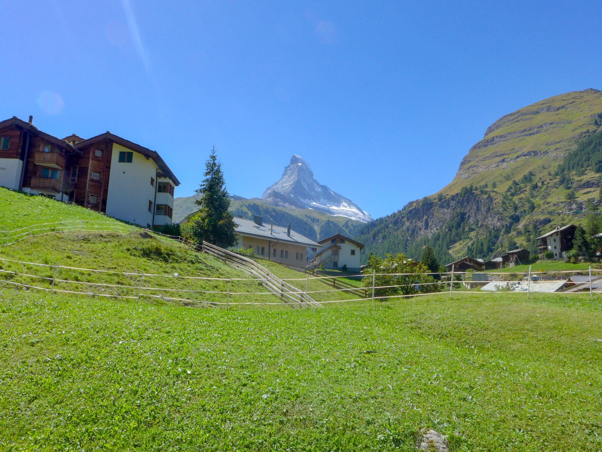
<path fill-rule="evenodd" d="M 172 223 L 178 179 L 157 151 L 110 132 L 59 139 L 13 116 L 0 121 L 0 186 L 75 202 L 146 227 Z"/>

